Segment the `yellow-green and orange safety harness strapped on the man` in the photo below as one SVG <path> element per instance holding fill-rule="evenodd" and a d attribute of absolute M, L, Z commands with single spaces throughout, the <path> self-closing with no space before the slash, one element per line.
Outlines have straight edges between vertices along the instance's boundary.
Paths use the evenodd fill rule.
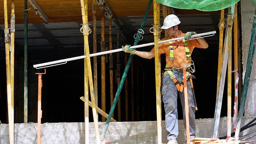
<path fill-rule="evenodd" d="M 168 39 L 170 39 L 170 37 L 168 36 Z M 173 46 L 182 46 L 182 47 L 185 47 L 185 51 L 186 51 L 186 60 L 187 61 L 191 61 L 191 54 L 190 54 L 190 51 L 189 51 L 189 46 L 188 46 L 188 42 L 185 40 L 184 41 L 184 45 L 180 45 L 180 44 L 173 44 L 173 42 L 169 42 L 169 51 L 170 51 L 170 55 L 169 55 L 169 60 L 174 60 L 176 58 L 176 56 L 174 56 L 174 53 L 173 53 Z M 189 67 L 190 68 L 190 67 Z M 167 70 L 166 70 L 167 69 Z M 168 65 L 166 63 L 166 71 L 168 72 L 168 74 L 170 75 L 170 78 L 173 80 L 176 88 L 178 89 L 178 91 L 180 92 L 183 92 L 183 88 L 184 88 L 184 78 L 182 80 L 182 83 L 179 84 L 179 82 L 177 81 L 175 75 L 173 74 L 172 71 L 179 71 L 181 69 L 183 69 L 182 67 L 180 68 L 177 68 L 177 67 L 172 67 L 172 68 L 168 68 Z M 189 76 L 189 70 L 187 70 L 186 72 L 186 77 Z"/>

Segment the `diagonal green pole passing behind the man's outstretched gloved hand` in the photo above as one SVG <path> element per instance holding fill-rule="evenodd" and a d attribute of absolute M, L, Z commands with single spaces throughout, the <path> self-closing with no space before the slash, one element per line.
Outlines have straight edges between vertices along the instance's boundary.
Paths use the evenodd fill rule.
<path fill-rule="evenodd" d="M 145 15 L 144 15 L 143 21 L 142 21 L 142 23 L 141 23 L 140 29 L 143 28 L 144 23 L 145 23 L 145 21 L 146 21 L 146 19 L 147 19 L 147 14 L 148 14 L 148 12 L 149 12 L 151 3 L 152 3 L 152 0 L 149 1 L 149 4 L 148 4 L 148 6 L 147 6 L 147 10 L 146 10 L 146 13 L 145 13 Z M 135 38 L 135 40 L 134 40 L 134 45 L 138 45 L 138 42 L 139 42 L 140 38 L 141 38 L 141 33 L 138 32 L 138 33 L 137 33 L 137 36 L 136 36 L 136 38 Z M 109 117 L 108 117 L 108 119 L 107 119 L 107 121 L 106 121 L 104 130 L 103 130 L 103 132 L 102 132 L 102 134 L 101 134 L 101 140 L 102 140 L 102 141 L 104 140 L 104 137 L 105 137 L 105 135 L 106 135 L 107 129 L 108 129 L 108 127 L 109 127 L 110 118 L 112 117 L 113 111 L 114 111 L 114 109 L 115 109 L 115 105 L 116 105 L 116 103 L 117 103 L 118 97 L 119 97 L 120 92 L 121 92 L 121 90 L 122 90 L 122 86 L 123 86 L 123 84 L 124 84 L 125 77 L 126 77 L 126 75 L 127 75 L 127 72 L 128 72 L 128 70 L 129 70 L 129 67 L 130 67 L 130 65 L 131 65 L 132 58 L 133 58 L 133 54 L 130 54 L 129 59 L 128 59 L 128 61 L 127 61 L 127 65 L 125 66 L 125 71 L 124 71 L 124 73 L 123 73 L 123 75 L 122 75 L 122 79 L 121 79 L 120 84 L 119 84 L 119 86 L 118 86 L 118 90 L 117 90 L 117 92 L 116 92 L 116 94 L 115 94 L 115 98 L 114 98 L 114 101 L 113 101 L 113 105 L 111 106 L 111 109 L 110 109 L 110 112 L 109 112 Z"/>

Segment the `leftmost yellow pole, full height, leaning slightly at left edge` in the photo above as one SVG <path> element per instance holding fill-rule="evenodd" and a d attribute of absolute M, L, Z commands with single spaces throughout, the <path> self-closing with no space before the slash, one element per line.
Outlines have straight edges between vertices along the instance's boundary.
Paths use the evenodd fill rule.
<path fill-rule="evenodd" d="M 9 45 L 9 29 L 7 16 L 7 0 L 3 1 L 4 8 L 4 42 L 5 42 L 5 56 L 6 56 L 6 82 L 7 82 L 7 105 L 8 105 L 8 122 L 9 122 L 9 138 L 10 144 L 14 143 L 14 111 L 13 111 L 13 97 L 11 89 L 10 77 L 10 45 Z"/>

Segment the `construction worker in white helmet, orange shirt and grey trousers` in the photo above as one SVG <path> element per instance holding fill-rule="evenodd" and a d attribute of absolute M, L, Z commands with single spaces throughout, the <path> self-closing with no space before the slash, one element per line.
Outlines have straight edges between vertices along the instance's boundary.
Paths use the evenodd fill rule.
<path fill-rule="evenodd" d="M 186 131 L 185 124 L 185 106 L 184 106 L 184 92 L 183 92 L 183 72 L 182 67 L 184 65 L 191 64 L 191 53 L 194 47 L 207 48 L 208 44 L 203 38 L 195 40 L 189 40 L 191 35 L 195 35 L 195 32 L 182 33 L 179 30 L 179 18 L 176 15 L 168 15 L 164 21 L 162 29 L 166 29 L 168 33 L 167 38 L 162 40 L 168 40 L 173 38 L 184 37 L 185 40 L 166 42 L 158 45 L 159 56 L 161 54 L 166 55 L 166 69 L 164 72 L 162 81 L 162 96 L 165 109 L 165 122 L 166 130 L 168 131 L 167 139 L 168 144 L 177 144 L 176 138 L 178 136 L 178 113 L 177 113 L 177 97 L 181 99 L 183 109 L 183 122 Z M 123 51 L 127 53 L 136 54 L 142 58 L 153 58 L 154 48 L 147 51 L 137 51 L 130 49 L 129 45 L 122 46 Z M 188 68 L 189 69 L 189 68 Z M 189 70 L 187 70 L 189 71 Z M 189 73 L 189 72 L 187 72 Z M 188 103 L 189 103 L 189 127 L 190 137 L 195 137 L 195 103 L 191 88 L 190 80 L 187 79 L 187 91 L 188 91 Z"/>

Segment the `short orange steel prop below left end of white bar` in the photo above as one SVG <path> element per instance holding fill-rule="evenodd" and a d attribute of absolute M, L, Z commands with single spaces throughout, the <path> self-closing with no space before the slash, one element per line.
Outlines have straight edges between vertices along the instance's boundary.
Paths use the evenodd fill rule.
<path fill-rule="evenodd" d="M 46 74 L 46 70 L 44 73 L 35 73 L 38 74 L 38 109 L 37 109 L 37 144 L 41 144 L 41 118 L 42 118 L 42 74 Z"/>

